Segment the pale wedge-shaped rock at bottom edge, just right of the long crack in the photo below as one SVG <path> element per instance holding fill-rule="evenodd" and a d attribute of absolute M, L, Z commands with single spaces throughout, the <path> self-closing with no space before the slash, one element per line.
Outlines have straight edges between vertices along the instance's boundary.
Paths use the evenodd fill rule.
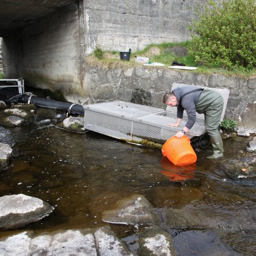
<path fill-rule="evenodd" d="M 134 255 L 125 243 L 118 239 L 109 227 L 102 227 L 95 233 L 96 247 L 100 255 Z"/>

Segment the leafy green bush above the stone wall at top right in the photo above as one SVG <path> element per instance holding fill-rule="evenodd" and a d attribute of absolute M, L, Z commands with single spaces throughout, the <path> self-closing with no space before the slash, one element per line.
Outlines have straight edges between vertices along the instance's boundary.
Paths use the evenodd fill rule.
<path fill-rule="evenodd" d="M 255 68 L 255 0 L 203 1 L 194 11 L 188 51 L 196 62 L 212 68 Z"/>

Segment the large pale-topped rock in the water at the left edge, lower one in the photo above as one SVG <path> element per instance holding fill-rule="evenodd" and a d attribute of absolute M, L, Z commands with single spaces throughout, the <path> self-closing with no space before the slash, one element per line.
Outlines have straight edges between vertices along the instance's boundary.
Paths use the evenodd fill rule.
<path fill-rule="evenodd" d="M 0 197 L 0 230 L 16 229 L 39 221 L 53 211 L 41 199 L 25 194 Z"/>

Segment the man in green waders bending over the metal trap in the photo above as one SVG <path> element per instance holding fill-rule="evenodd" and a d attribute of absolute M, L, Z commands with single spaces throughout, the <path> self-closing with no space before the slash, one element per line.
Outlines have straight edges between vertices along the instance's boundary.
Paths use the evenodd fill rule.
<path fill-rule="evenodd" d="M 208 159 L 223 157 L 223 143 L 218 126 L 220 125 L 223 109 L 223 98 L 214 90 L 207 88 L 200 89 L 196 86 L 184 86 L 174 89 L 163 96 L 163 103 L 170 107 L 177 107 L 176 124 L 169 124 L 178 127 L 183 117 L 184 109 L 187 112 L 187 123 L 183 129 L 176 133 L 177 138 L 184 136 L 196 122 L 196 112 L 204 113 L 205 129 L 211 139 L 214 154 L 208 156 Z"/>

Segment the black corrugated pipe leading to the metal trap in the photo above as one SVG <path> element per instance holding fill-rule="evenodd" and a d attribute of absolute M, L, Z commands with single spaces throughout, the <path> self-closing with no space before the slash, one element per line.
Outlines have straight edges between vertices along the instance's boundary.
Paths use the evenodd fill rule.
<path fill-rule="evenodd" d="M 78 104 L 44 99 L 38 96 L 34 96 L 34 95 L 29 96 L 26 94 L 20 95 L 20 101 L 22 103 L 33 103 L 35 106 L 38 106 L 38 107 L 60 109 L 70 114 L 84 115 L 83 106 Z"/>

